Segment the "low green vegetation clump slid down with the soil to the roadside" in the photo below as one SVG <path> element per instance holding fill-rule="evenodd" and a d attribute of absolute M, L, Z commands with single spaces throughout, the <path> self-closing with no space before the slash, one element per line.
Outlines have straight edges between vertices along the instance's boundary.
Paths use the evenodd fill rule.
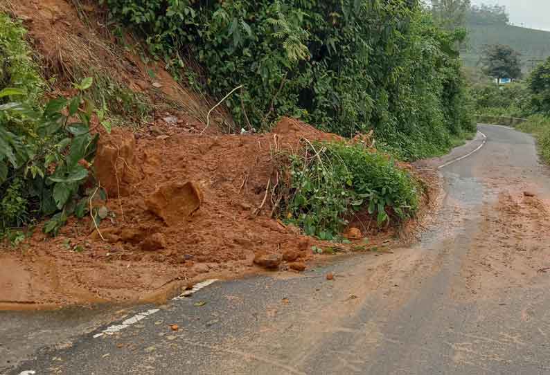
<path fill-rule="evenodd" d="M 365 208 L 379 226 L 418 209 L 418 183 L 389 156 L 362 144 L 305 143 L 302 155 L 288 156 L 281 209 L 306 234 L 336 239 L 353 213 Z"/>

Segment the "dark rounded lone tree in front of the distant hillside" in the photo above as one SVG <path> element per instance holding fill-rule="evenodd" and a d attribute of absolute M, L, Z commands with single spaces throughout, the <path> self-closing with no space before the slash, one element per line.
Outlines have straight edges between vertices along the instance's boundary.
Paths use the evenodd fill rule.
<path fill-rule="evenodd" d="M 511 78 L 513 80 L 522 75 L 520 53 L 511 46 L 493 44 L 485 46 L 481 56 L 481 67 L 486 75 L 497 78 Z"/>

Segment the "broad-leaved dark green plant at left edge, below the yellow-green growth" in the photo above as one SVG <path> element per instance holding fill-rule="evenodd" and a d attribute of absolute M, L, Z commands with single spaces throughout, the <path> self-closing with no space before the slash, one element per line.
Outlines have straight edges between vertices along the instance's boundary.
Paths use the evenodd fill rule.
<path fill-rule="evenodd" d="M 86 78 L 75 85 L 79 93 L 74 98 L 52 99 L 43 109 L 24 100 L 0 105 L 0 186 L 6 188 L 0 193 L 1 230 L 53 214 L 44 232 L 56 235 L 76 212 L 99 137 L 90 132 L 94 106 L 84 95 L 91 85 Z M 0 98 L 7 93 L 17 92 L 4 89 Z M 8 128 L 14 114 L 33 125 L 32 134 Z"/>

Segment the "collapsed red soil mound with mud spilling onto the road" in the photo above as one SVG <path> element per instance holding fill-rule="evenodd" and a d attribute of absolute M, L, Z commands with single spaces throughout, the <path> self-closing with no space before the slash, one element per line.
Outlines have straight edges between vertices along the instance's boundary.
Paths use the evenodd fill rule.
<path fill-rule="evenodd" d="M 15 280 L 0 271 L 0 302 L 136 301 L 204 273 L 258 271 L 258 256 L 286 254 L 282 267 L 293 269 L 312 257 L 316 241 L 272 219 L 272 157 L 297 149 L 302 137 L 336 136 L 289 118 L 261 135 L 156 129 L 102 135 L 95 167 L 111 217 L 99 232 L 91 219 L 71 219 L 55 239 L 36 230 L 26 252 L 1 253 L 0 263 L 20 272 Z"/>

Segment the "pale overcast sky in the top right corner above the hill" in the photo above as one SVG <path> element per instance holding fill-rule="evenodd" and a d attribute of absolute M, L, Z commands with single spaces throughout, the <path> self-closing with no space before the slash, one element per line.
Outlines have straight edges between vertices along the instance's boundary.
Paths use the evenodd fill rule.
<path fill-rule="evenodd" d="M 472 0 L 481 3 L 506 6 L 511 24 L 550 31 L 550 0 Z"/>

